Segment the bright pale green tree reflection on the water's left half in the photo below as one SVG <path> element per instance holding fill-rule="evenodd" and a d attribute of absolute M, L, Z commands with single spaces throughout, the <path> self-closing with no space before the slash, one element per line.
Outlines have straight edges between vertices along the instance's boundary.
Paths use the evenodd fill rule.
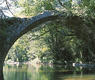
<path fill-rule="evenodd" d="M 53 69 L 48 66 L 42 66 L 38 70 L 26 65 L 4 67 L 5 80 L 55 80 L 53 74 Z"/>

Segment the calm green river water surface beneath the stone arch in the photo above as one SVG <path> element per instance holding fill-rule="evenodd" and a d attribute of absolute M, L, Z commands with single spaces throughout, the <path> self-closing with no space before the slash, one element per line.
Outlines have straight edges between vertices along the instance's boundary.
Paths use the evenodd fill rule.
<path fill-rule="evenodd" d="M 69 66 L 4 66 L 4 80 L 95 80 L 95 70 Z"/>

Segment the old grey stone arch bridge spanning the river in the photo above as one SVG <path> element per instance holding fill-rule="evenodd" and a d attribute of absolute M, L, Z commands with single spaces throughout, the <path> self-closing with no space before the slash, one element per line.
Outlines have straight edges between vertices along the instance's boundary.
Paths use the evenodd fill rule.
<path fill-rule="evenodd" d="M 23 34 L 47 21 L 51 22 L 57 19 L 62 21 L 62 25 L 73 29 L 78 38 L 84 40 L 86 44 L 91 44 L 90 48 L 93 53 L 95 52 L 95 47 L 93 46 L 95 45 L 95 27 L 91 25 L 95 23 L 92 21 L 92 23 L 88 25 L 84 18 L 74 15 L 68 16 L 68 13 L 63 14 L 60 17 L 60 13 L 56 14 L 55 12 L 46 11 L 32 18 L 10 18 L 8 23 L 11 25 L 8 25 L 5 29 L 3 29 L 4 26 L 2 26 L 0 22 L 0 80 L 3 80 L 5 57 L 14 42 Z M 91 26 L 91 28 L 89 28 L 89 26 Z M 4 30 L 5 33 L 3 33 L 2 30 Z M 88 39 L 89 37 L 90 39 Z"/>

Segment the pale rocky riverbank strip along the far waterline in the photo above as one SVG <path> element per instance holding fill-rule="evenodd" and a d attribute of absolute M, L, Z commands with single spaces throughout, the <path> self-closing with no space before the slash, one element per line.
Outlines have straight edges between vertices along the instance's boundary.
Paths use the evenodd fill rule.
<path fill-rule="evenodd" d="M 53 64 L 53 63 L 42 63 L 39 59 L 35 59 L 32 61 L 26 61 L 26 62 L 14 62 L 11 60 L 5 61 L 5 65 L 22 65 L 22 64 L 28 64 L 28 65 L 61 65 L 61 66 L 65 66 L 64 64 Z M 67 66 L 72 66 L 72 67 L 82 67 L 82 68 L 95 68 L 95 63 L 72 63 L 72 64 L 67 64 Z"/>

